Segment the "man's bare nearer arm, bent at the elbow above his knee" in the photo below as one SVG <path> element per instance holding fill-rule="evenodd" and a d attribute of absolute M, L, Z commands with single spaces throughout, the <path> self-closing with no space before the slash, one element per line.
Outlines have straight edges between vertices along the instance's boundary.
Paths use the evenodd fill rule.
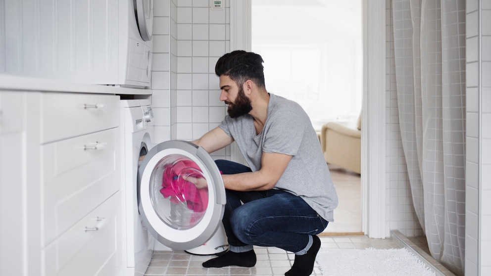
<path fill-rule="evenodd" d="M 238 191 L 272 189 L 285 172 L 292 155 L 262 153 L 261 169 L 256 172 L 223 175 L 225 188 Z"/>

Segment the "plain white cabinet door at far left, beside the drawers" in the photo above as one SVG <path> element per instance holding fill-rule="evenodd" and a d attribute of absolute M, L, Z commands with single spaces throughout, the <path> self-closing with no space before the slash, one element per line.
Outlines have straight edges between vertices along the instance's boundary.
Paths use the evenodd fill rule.
<path fill-rule="evenodd" d="M 25 275 L 25 94 L 0 92 L 0 275 Z M 12 212 L 16 210 L 16 212 Z"/>

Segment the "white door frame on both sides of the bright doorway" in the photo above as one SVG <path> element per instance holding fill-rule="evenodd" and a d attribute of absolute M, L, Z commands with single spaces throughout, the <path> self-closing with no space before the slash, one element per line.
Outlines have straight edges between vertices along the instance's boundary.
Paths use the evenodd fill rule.
<path fill-rule="evenodd" d="M 386 210 L 386 3 L 362 1 L 363 104 L 361 135 L 362 231 L 390 237 Z M 370 35 L 368 35 L 370 33 Z M 230 50 L 251 50 L 251 0 L 230 0 Z M 382 141 L 382 142 L 381 142 Z M 231 146 L 231 159 L 244 158 Z"/>

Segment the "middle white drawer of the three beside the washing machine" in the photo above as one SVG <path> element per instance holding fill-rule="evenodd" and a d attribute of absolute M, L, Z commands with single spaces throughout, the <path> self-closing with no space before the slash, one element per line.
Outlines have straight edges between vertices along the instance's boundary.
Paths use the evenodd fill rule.
<path fill-rule="evenodd" d="M 119 128 L 42 146 L 47 245 L 118 189 Z"/>

